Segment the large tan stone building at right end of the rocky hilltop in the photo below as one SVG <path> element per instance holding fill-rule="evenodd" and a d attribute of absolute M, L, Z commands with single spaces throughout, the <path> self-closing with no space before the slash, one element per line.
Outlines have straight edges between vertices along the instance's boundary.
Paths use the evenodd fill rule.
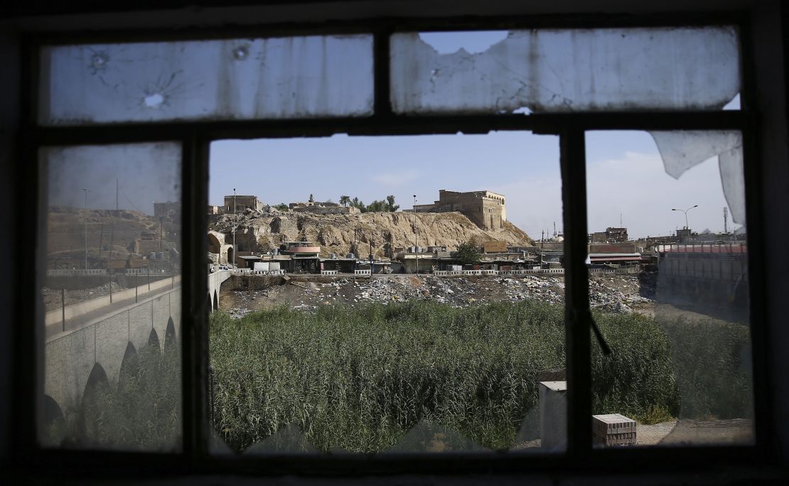
<path fill-rule="evenodd" d="M 504 222 L 507 221 L 504 195 L 491 191 L 458 193 L 441 189 L 439 190 L 439 200 L 433 204 L 417 204 L 413 207 L 413 211 L 458 211 L 483 230 L 500 230 Z"/>

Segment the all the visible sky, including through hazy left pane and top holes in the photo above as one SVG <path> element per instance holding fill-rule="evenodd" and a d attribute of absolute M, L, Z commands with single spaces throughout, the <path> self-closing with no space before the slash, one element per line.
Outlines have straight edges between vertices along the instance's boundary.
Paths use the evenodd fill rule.
<path fill-rule="evenodd" d="M 422 38 L 440 53 L 486 50 L 507 32 L 428 33 Z M 728 108 L 738 108 L 739 98 Z M 151 213 L 154 200 L 176 199 L 178 155 L 145 148 L 73 149 L 54 161 L 51 204 L 114 207 L 115 178 L 120 206 Z M 723 230 L 726 202 L 716 160 L 682 175 L 663 170 L 648 133 L 596 132 L 587 136 L 589 231 L 619 226 L 630 235 L 669 234 L 684 226 L 671 207 L 699 207 L 688 218 L 694 230 Z M 166 159 L 166 160 L 165 160 Z M 143 170 L 140 170 L 140 167 Z M 402 208 L 431 203 L 439 189 L 488 189 L 507 196 L 507 215 L 532 237 L 562 231 L 559 140 L 531 133 L 382 136 L 293 140 L 221 140 L 211 144 L 209 202 L 255 194 L 268 204 L 333 200 L 348 195 L 369 204 L 394 195 Z M 730 221 L 731 223 L 731 221 Z M 731 227 L 731 226 L 730 226 Z"/>

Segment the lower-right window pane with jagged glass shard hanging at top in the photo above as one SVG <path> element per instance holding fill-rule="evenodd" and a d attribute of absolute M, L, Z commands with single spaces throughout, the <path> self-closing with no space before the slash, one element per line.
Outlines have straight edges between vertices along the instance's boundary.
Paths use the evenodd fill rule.
<path fill-rule="evenodd" d="M 596 447 L 753 443 L 742 134 L 586 140 Z"/>

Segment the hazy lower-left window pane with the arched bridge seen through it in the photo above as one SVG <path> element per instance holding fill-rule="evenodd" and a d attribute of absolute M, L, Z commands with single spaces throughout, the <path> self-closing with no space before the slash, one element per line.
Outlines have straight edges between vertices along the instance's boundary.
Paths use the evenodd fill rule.
<path fill-rule="evenodd" d="M 181 148 L 55 147 L 40 159 L 39 443 L 179 450 Z"/>

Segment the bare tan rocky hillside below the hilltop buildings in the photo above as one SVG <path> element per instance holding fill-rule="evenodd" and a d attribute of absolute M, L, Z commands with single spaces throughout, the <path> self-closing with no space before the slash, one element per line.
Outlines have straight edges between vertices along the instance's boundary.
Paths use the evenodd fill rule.
<path fill-rule="evenodd" d="M 279 248 L 282 241 L 311 241 L 321 246 L 321 256 L 330 252 L 345 255 L 355 253 L 369 256 L 370 242 L 376 256 L 386 256 L 387 250 L 413 246 L 413 213 L 373 212 L 360 215 L 314 215 L 309 213 L 279 212 L 247 209 L 236 215 L 238 230 L 236 244 L 239 251 L 266 252 Z M 529 235 L 510 222 L 502 230 L 485 231 L 459 212 L 418 213 L 417 245 L 447 245 L 457 248 L 465 241 L 499 240 L 510 245 L 530 245 Z M 233 240 L 233 215 L 212 215 L 209 229 L 225 234 L 225 241 Z"/>

